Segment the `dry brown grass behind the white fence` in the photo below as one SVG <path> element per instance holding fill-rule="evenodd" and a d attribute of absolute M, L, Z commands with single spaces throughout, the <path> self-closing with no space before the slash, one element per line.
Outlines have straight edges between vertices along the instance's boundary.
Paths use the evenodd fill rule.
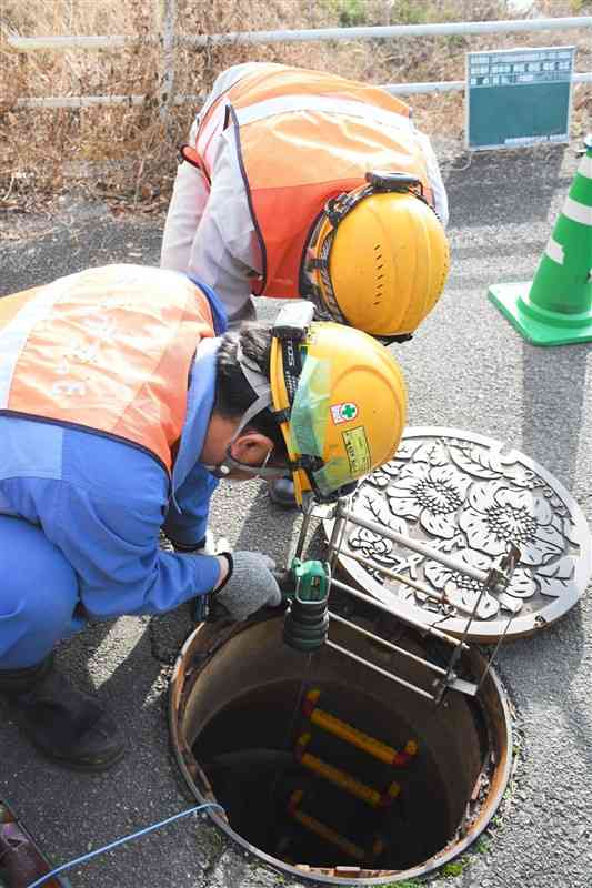
<path fill-rule="evenodd" d="M 221 33 L 338 24 L 393 24 L 523 18 L 504 0 L 178 0 L 184 33 Z M 160 52 L 151 42 L 117 51 L 20 53 L 8 33 L 139 34 L 158 27 L 159 0 L 0 0 L 0 208 L 22 210 L 73 181 L 138 206 L 164 204 L 174 176 L 174 147 L 194 109 L 159 118 Z M 539 0 L 539 14 L 589 14 L 588 0 Z M 334 43 L 225 46 L 175 53 L 175 90 L 205 94 L 224 68 L 247 60 L 322 68 L 373 83 L 462 80 L 468 50 L 512 46 L 578 46 L 576 67 L 592 70 L 590 31 L 408 38 Z M 17 109 L 19 98 L 141 94 L 141 105 L 76 110 Z M 433 137 L 462 144 L 462 93 L 411 97 L 415 120 Z M 574 90 L 573 135 L 589 125 L 590 89 Z"/>

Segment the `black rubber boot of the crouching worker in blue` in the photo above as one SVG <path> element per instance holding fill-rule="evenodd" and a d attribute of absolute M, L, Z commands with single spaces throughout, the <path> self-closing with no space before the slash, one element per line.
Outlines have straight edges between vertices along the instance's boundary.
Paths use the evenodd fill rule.
<path fill-rule="evenodd" d="M 0 670 L 0 694 L 39 751 L 76 770 L 104 770 L 123 756 L 113 719 L 89 694 L 73 687 L 52 658 L 26 669 Z"/>

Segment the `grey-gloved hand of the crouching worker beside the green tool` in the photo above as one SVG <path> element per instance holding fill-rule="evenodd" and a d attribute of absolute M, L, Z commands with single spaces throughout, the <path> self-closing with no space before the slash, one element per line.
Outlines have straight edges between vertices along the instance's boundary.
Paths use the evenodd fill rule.
<path fill-rule="evenodd" d="M 230 575 L 221 588 L 213 593 L 232 619 L 247 619 L 260 607 L 278 607 L 282 594 L 272 574 L 275 562 L 260 552 L 224 553 L 230 562 Z"/>

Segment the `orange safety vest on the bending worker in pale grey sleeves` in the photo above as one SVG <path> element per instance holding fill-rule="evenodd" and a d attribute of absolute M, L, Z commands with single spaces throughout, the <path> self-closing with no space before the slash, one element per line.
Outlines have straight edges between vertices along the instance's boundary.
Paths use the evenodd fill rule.
<path fill-rule="evenodd" d="M 182 154 L 211 181 L 217 137 L 230 122 L 259 236 L 262 276 L 253 293 L 300 297 L 312 226 L 330 198 L 367 172 L 405 172 L 433 204 L 425 158 L 404 102 L 337 74 L 259 64 L 222 93 Z"/>

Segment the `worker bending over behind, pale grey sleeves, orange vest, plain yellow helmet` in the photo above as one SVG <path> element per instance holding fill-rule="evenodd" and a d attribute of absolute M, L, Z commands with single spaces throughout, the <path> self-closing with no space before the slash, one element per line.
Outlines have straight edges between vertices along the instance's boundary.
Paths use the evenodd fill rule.
<path fill-rule="evenodd" d="M 251 294 L 405 340 L 448 274 L 448 200 L 409 107 L 377 87 L 282 64 L 224 71 L 181 149 L 161 265 L 214 287 L 231 326 Z M 279 505 L 291 485 L 270 487 Z"/>

